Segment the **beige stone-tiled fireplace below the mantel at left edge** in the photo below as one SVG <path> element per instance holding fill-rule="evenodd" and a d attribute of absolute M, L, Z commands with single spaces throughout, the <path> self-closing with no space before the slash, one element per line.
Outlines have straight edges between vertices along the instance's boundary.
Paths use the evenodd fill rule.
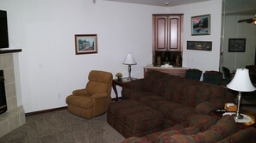
<path fill-rule="evenodd" d="M 15 52 L 0 51 L 0 138 L 26 123 L 21 94 L 16 90 L 19 59 Z"/>

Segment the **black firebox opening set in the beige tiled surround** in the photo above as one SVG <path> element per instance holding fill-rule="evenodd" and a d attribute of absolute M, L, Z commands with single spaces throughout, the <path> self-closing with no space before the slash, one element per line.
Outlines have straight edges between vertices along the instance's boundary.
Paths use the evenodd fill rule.
<path fill-rule="evenodd" d="M 0 114 L 7 110 L 3 70 L 0 70 Z"/>

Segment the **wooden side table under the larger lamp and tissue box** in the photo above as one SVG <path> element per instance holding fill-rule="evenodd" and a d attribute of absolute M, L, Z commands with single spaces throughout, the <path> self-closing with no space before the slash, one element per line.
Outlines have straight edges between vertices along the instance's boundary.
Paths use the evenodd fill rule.
<path fill-rule="evenodd" d="M 222 117 L 223 113 L 225 113 L 225 112 L 224 111 L 211 111 L 209 113 L 209 115 Z M 247 116 L 250 116 L 252 118 L 252 121 L 244 122 L 244 123 L 237 122 L 238 128 L 240 128 L 240 129 L 248 128 L 248 127 L 256 128 L 256 119 L 255 119 L 256 113 L 254 113 L 253 111 L 250 111 L 250 110 L 240 110 L 240 114 L 245 114 Z"/>

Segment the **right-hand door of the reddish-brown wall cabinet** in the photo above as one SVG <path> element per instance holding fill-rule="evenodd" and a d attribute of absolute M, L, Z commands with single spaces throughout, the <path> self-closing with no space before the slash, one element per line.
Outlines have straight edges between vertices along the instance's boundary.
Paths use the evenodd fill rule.
<path fill-rule="evenodd" d="M 168 17 L 168 36 L 167 47 L 168 51 L 180 51 L 181 47 L 181 20 L 179 15 L 170 15 Z"/>

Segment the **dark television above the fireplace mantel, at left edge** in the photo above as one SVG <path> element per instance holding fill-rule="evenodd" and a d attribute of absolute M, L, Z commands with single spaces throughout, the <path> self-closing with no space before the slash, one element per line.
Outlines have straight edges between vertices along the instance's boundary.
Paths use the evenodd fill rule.
<path fill-rule="evenodd" d="M 0 10 L 0 49 L 9 48 L 7 13 Z"/>

